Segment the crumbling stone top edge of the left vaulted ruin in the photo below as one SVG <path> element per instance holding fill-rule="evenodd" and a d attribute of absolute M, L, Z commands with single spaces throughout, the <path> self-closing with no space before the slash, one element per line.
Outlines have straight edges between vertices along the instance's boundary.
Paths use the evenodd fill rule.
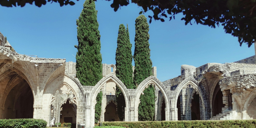
<path fill-rule="evenodd" d="M 53 59 L 53 58 L 38 58 L 30 57 L 24 54 L 19 54 L 12 52 L 8 48 L 0 46 L 0 53 L 12 60 L 12 63 L 15 61 L 30 61 L 31 63 L 65 63 L 66 59 Z"/>

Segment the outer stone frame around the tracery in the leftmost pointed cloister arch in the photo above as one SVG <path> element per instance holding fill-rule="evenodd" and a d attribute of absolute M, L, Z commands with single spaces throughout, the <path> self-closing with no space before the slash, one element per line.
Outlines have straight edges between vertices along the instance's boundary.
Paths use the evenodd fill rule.
<path fill-rule="evenodd" d="M 72 103 L 74 103 L 77 107 L 77 110 L 79 109 L 80 113 L 83 113 L 82 115 L 77 115 L 76 117 L 76 123 L 81 123 L 84 124 L 84 118 L 85 118 L 85 112 L 84 108 L 86 105 L 86 94 L 84 91 L 84 88 L 80 84 L 79 80 L 74 78 L 74 76 L 71 76 L 67 73 L 65 74 L 60 74 L 57 75 L 54 79 L 52 79 L 50 82 L 46 82 L 47 85 L 45 86 L 45 90 L 43 93 L 42 97 L 42 104 L 43 104 L 43 109 L 42 111 L 44 113 L 50 113 L 49 106 L 52 104 L 52 102 L 55 99 L 54 94 L 56 93 L 57 90 L 63 85 L 69 87 L 69 91 L 72 90 L 72 94 L 74 94 L 75 99 L 69 99 Z M 74 98 L 73 97 L 73 98 Z M 67 101 L 68 98 L 61 100 L 61 105 L 63 104 L 64 101 Z M 76 101 L 76 102 L 74 102 Z M 61 105 L 57 108 L 58 110 L 60 109 Z M 43 118 L 46 121 L 50 121 L 50 115 L 49 117 L 44 117 Z M 58 118 L 57 118 L 58 119 Z M 49 124 L 49 123 L 48 123 Z"/>

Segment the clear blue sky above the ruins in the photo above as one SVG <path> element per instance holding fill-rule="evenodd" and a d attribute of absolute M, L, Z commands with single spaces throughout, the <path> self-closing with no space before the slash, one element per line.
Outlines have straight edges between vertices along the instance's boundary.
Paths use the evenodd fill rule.
<path fill-rule="evenodd" d="M 83 0 L 74 6 L 60 7 L 47 3 L 42 7 L 0 7 L 0 31 L 16 52 L 43 58 L 65 58 L 76 61 L 78 44 L 76 19 L 83 8 Z M 113 1 L 98 0 L 99 31 L 101 34 L 102 63 L 115 64 L 117 34 L 120 24 L 128 24 L 132 53 L 134 52 L 135 19 L 142 10 L 136 4 L 121 7 L 117 12 L 110 7 Z M 152 15 L 147 12 L 144 15 Z M 157 67 L 161 81 L 180 75 L 182 64 L 199 67 L 206 63 L 230 63 L 253 56 L 254 46 L 239 46 L 238 39 L 225 34 L 223 27 L 213 29 L 203 25 L 187 25 L 176 15 L 175 20 L 152 21 L 149 28 L 151 60 Z M 148 19 L 149 21 L 149 19 Z M 134 63 L 133 63 L 134 65 Z"/>

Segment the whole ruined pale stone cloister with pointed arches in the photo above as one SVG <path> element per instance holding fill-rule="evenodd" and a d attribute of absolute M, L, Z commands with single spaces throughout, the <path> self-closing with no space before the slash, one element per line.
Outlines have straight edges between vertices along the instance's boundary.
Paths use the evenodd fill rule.
<path fill-rule="evenodd" d="M 103 78 L 82 86 L 74 62 L 18 54 L 0 33 L 0 119 L 38 118 L 50 123 L 94 127 L 96 96 L 102 91 L 100 121 L 120 121 L 116 85 L 125 98 L 124 121 L 138 121 L 140 95 L 155 87 L 155 120 L 256 119 L 255 56 L 234 63 L 181 65 L 181 75 L 161 82 L 157 67 L 137 89 L 127 89 L 114 64 L 102 64 Z M 133 68 L 134 69 L 134 68 Z"/>

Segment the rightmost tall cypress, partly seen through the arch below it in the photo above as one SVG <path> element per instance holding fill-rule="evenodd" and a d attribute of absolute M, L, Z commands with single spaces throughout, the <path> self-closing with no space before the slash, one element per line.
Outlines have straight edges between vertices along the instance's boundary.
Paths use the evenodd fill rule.
<path fill-rule="evenodd" d="M 144 79 L 152 74 L 152 61 L 149 49 L 149 25 L 144 15 L 138 16 L 135 20 L 135 50 L 134 50 L 134 84 L 138 86 Z M 140 95 L 139 120 L 152 121 L 155 113 L 155 91 L 150 85 L 144 90 L 144 95 Z"/>

